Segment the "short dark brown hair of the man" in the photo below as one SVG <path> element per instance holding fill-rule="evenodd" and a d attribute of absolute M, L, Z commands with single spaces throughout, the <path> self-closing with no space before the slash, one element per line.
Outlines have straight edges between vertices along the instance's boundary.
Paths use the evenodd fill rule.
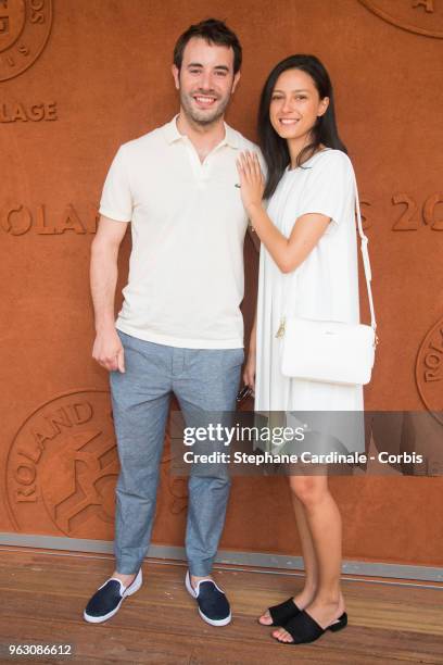
<path fill-rule="evenodd" d="M 174 48 L 174 64 L 178 70 L 181 68 L 186 45 L 193 37 L 205 39 L 207 43 L 231 47 L 233 51 L 233 73 L 237 74 L 241 66 L 242 55 L 239 38 L 228 28 L 226 23 L 218 21 L 217 18 L 206 18 L 206 21 L 201 21 L 195 25 L 191 25 L 182 35 L 180 35 Z"/>

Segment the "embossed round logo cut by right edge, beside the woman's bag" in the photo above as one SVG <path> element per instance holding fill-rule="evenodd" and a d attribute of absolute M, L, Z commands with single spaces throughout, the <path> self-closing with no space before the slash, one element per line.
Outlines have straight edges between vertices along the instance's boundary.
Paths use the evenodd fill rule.
<path fill-rule="evenodd" d="M 416 381 L 425 405 L 443 425 L 443 318 L 432 326 L 420 346 Z"/>

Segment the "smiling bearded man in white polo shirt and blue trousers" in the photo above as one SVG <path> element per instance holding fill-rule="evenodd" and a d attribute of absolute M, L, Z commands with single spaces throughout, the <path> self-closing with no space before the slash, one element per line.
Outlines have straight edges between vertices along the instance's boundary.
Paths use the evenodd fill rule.
<path fill-rule="evenodd" d="M 84 616 L 100 623 L 141 586 L 172 392 L 185 421 L 233 411 L 243 363 L 243 240 L 236 160 L 255 146 L 224 123 L 241 46 L 216 20 L 178 39 L 179 114 L 124 143 L 107 174 L 92 243 L 93 357 L 111 375 L 121 475 L 112 577 Z M 124 304 L 114 322 L 118 248 L 132 224 Z M 229 603 L 211 577 L 229 494 L 223 474 L 191 475 L 186 587 L 202 618 L 224 626 Z"/>

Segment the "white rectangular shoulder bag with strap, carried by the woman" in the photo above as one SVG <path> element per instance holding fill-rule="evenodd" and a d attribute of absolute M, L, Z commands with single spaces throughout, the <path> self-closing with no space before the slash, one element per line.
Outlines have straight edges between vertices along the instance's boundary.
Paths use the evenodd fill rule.
<path fill-rule="evenodd" d="M 284 376 L 342 385 L 366 385 L 378 343 L 377 323 L 370 289 L 368 239 L 363 233 L 358 191 L 355 209 L 370 309 L 370 326 L 338 321 L 283 317 L 276 337 L 281 338 L 281 373 Z"/>

